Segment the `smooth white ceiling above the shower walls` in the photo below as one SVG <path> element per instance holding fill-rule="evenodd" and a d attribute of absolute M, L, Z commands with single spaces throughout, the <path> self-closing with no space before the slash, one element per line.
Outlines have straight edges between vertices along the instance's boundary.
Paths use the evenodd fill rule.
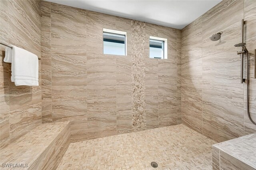
<path fill-rule="evenodd" d="M 221 0 L 46 0 L 182 29 Z"/>

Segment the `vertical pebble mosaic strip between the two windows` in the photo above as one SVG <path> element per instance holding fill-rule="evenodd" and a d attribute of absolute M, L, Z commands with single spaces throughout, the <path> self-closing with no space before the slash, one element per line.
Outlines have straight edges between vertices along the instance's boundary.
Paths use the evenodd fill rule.
<path fill-rule="evenodd" d="M 144 22 L 132 20 L 132 131 L 146 129 L 145 31 Z"/>

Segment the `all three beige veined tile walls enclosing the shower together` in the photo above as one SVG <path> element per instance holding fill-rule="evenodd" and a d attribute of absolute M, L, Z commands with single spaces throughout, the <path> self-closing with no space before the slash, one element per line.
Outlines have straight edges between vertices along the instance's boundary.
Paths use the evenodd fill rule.
<path fill-rule="evenodd" d="M 44 122 L 70 120 L 73 141 L 175 125 L 181 113 L 184 124 L 216 141 L 256 130 L 233 47 L 244 18 L 255 120 L 255 1 L 223 1 L 182 31 L 45 1 L 0 4 L 1 42 L 42 55 L 42 86 L 16 87 L 1 46 L 1 147 L 37 126 L 41 115 Z M 127 31 L 126 57 L 102 54 L 103 28 Z M 218 31 L 221 42 L 210 41 Z M 168 38 L 168 59 L 149 59 L 150 35 Z"/>

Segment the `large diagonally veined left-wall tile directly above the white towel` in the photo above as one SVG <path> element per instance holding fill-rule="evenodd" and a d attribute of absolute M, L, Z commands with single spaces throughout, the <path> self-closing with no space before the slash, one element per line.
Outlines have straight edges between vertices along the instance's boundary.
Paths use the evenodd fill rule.
<path fill-rule="evenodd" d="M 8 1 L 9 43 L 40 54 L 40 2 Z"/>

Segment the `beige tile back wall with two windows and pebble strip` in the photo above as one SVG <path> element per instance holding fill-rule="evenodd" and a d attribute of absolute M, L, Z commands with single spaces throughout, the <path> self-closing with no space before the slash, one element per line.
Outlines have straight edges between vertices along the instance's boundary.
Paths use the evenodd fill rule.
<path fill-rule="evenodd" d="M 42 117 L 71 121 L 72 141 L 181 123 L 181 31 L 41 1 Z M 127 56 L 103 55 L 102 29 L 127 32 Z M 149 36 L 168 59 L 149 59 Z M 179 90 L 177 90 L 179 89 Z"/>

